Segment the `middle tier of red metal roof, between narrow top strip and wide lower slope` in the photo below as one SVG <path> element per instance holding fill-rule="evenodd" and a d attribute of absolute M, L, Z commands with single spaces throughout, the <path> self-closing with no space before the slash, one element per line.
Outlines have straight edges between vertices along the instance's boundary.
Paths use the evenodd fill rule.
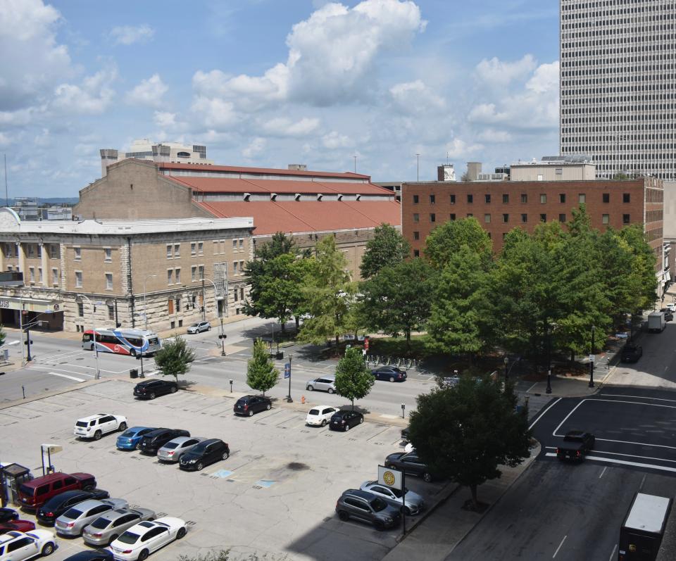
<path fill-rule="evenodd" d="M 303 193 L 303 194 L 362 194 L 384 195 L 394 198 L 394 193 L 373 183 L 318 182 L 302 179 L 236 179 L 233 177 L 193 177 L 165 175 L 196 191 L 207 193 Z"/>

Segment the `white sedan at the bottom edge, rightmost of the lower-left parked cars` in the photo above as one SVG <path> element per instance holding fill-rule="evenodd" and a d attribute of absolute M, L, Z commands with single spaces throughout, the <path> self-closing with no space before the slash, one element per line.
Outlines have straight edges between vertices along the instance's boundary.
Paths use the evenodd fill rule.
<path fill-rule="evenodd" d="M 148 555 L 185 536 L 185 521 L 180 518 L 163 517 L 139 522 L 111 543 L 115 560 L 144 561 Z"/>

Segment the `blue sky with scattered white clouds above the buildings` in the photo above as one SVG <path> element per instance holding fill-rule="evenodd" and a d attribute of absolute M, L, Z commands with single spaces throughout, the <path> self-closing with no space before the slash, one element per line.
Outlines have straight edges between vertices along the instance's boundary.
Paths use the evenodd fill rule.
<path fill-rule="evenodd" d="M 0 53 L 10 197 L 77 196 L 139 138 L 222 165 L 357 156 L 373 181 L 558 153 L 553 0 L 0 0 Z"/>

